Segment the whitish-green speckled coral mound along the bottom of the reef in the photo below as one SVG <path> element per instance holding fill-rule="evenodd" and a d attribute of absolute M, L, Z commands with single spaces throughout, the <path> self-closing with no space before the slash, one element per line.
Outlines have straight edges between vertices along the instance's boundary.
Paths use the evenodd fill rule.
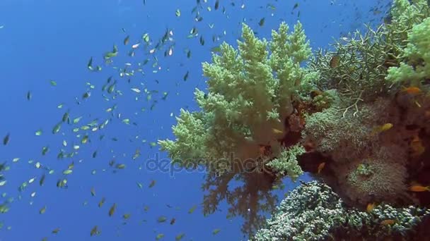
<path fill-rule="evenodd" d="M 429 216 L 426 208 L 388 204 L 360 211 L 312 181 L 289 193 L 251 240 L 423 240 Z"/>

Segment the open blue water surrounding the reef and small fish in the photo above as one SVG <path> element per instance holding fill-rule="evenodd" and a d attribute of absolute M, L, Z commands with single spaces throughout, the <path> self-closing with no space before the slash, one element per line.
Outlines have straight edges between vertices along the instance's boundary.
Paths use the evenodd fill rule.
<path fill-rule="evenodd" d="M 218 11 L 214 11 L 214 2 L 202 0 L 199 11 L 204 19 L 196 22 L 191 13 L 195 0 L 146 0 L 145 5 L 142 0 L 0 1 L 0 26 L 3 26 L 0 29 L 0 136 L 10 133 L 9 143 L 0 147 L 0 161 L 6 161 L 10 168 L 4 173 L 7 183 L 0 187 L 0 193 L 6 193 L 2 201 L 14 199 L 8 204 L 10 210 L 0 214 L 4 224 L 0 240 L 42 240 L 43 237 L 47 240 L 154 240 L 160 233 L 165 235 L 161 240 L 175 240 L 179 233 L 185 233 L 182 240 L 246 239 L 240 231 L 243 218 L 226 218 L 229 206 L 225 200 L 214 214 L 203 215 L 204 172 L 148 170 L 146 163 L 156 155 L 168 161 L 165 152 L 159 152 L 158 147 L 151 147 L 149 143 L 174 138 L 170 127 L 176 123 L 174 117 L 180 108 L 198 110 L 192 93 L 195 87 L 206 87 L 201 63 L 211 61 L 211 47 L 219 46 L 222 41 L 236 47 L 240 23 L 244 20 L 257 36 L 269 38 L 281 20 L 292 26 L 299 19 L 311 46 L 317 49 L 327 47 L 332 38 L 363 27 L 362 23 L 380 21 L 382 14 L 375 16 L 369 10 L 385 6 L 389 1 L 221 1 Z M 231 6 L 231 2 L 236 6 Z M 296 2 L 299 6 L 291 14 Z M 243 9 L 242 4 L 245 4 Z M 273 4 L 276 10 L 268 9 L 267 4 Z M 212 7 L 211 12 L 206 10 L 207 6 Z M 175 16 L 178 8 L 179 18 Z M 261 18 L 265 18 L 263 26 L 258 25 Z M 209 27 L 211 23 L 213 28 Z M 192 27 L 197 27 L 199 36 L 204 37 L 204 46 L 199 44 L 199 37 L 187 39 Z M 136 73 L 130 83 L 129 78 L 120 78 L 112 66 L 124 67 L 124 63 L 136 64 L 147 58 L 144 44 L 136 50 L 136 56 L 129 57 L 131 45 L 149 33 L 153 47 L 166 29 L 173 31 L 173 41 L 166 42 L 163 50 L 149 56 L 145 75 Z M 124 47 L 122 42 L 127 35 L 130 42 Z M 221 36 L 220 40 L 212 42 L 212 35 Z M 117 44 L 120 54 L 112 65 L 105 66 L 103 54 L 111 51 L 113 44 Z M 173 55 L 163 56 L 170 46 L 173 46 Z M 191 58 L 187 58 L 185 49 L 190 49 Z M 86 68 L 91 56 L 93 65 L 102 66 L 102 71 L 91 72 Z M 161 66 L 157 73 L 151 68 L 152 56 L 157 56 Z M 184 81 L 182 78 L 187 72 L 189 78 Z M 112 94 L 107 94 L 110 97 L 107 101 L 101 87 L 111 75 L 117 79 L 116 89 L 122 95 L 112 99 Z M 50 80 L 56 81 L 57 86 L 50 85 Z M 87 82 L 95 88 L 91 89 Z M 132 87 L 142 92 L 144 88 L 158 90 L 158 93 L 147 101 L 146 94 L 136 94 L 130 90 Z M 82 95 L 87 91 L 91 97 L 83 100 Z M 26 98 L 27 92 L 32 95 L 30 101 Z M 168 92 L 165 100 L 163 92 Z M 135 97 L 139 99 L 136 101 Z M 57 108 L 59 104 L 64 104 L 62 109 Z M 117 109 L 112 116 L 105 110 L 114 104 Z M 141 111 L 142 108 L 145 110 Z M 77 125 L 63 123 L 59 133 L 53 135 L 52 128 L 67 111 L 71 121 L 82 116 L 81 121 Z M 124 118 L 130 119 L 130 125 L 122 123 Z M 73 132 L 74 127 L 95 119 L 98 123 L 111 121 L 103 130 Z M 37 130 L 43 134 L 36 136 Z M 90 142 L 81 144 L 82 136 L 76 137 L 78 133 L 88 133 Z M 105 135 L 103 140 L 99 140 L 100 135 Z M 63 140 L 67 142 L 66 147 L 62 146 Z M 57 159 L 60 149 L 69 153 L 73 151 L 73 144 L 79 144 L 79 154 Z M 42 156 L 42 147 L 50 149 L 45 156 Z M 136 149 L 141 156 L 133 160 Z M 94 152 L 97 152 L 95 158 Z M 20 159 L 13 162 L 15 158 Z M 115 163 L 124 163 L 126 168 L 111 167 L 112 159 Z M 74 169 L 66 176 L 67 188 L 58 188 L 57 180 L 65 177 L 62 172 L 72 161 Z M 54 173 L 35 168 L 37 162 Z M 46 180 L 41 187 L 39 180 L 43 173 Z M 30 178 L 36 179 L 18 191 Z M 304 175 L 301 179 L 309 180 L 309 177 Z M 149 188 L 152 180 L 156 184 Z M 141 183 L 142 188 L 136 183 Z M 286 179 L 284 184 L 285 190 L 274 192 L 279 195 L 278 202 L 298 183 Z M 91 195 L 92 187 L 95 197 Z M 30 196 L 33 192 L 35 197 Z M 99 208 L 98 202 L 103 197 L 106 202 Z M 117 209 L 110 217 L 108 211 L 114 203 Z M 197 209 L 189 214 L 194 205 Z M 39 214 L 44 206 L 45 214 Z M 123 214 L 131 216 L 124 220 Z M 168 220 L 158 223 L 160 216 Z M 172 218 L 175 223 L 170 225 Z M 100 234 L 91 237 L 94 225 L 98 225 Z M 59 232 L 53 234 L 56 228 Z M 220 232 L 213 235 L 212 231 L 218 228 Z"/>

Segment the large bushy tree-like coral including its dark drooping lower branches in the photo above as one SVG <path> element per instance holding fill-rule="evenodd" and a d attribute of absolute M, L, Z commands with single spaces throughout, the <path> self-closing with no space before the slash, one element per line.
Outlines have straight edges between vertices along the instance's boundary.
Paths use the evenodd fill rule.
<path fill-rule="evenodd" d="M 305 152 L 298 142 L 303 116 L 296 101 L 303 83 L 318 73 L 301 67 L 311 54 L 301 23 L 291 33 L 281 23 L 271 41 L 243 24 L 242 39 L 238 50 L 223 43 L 212 63 L 203 63 L 208 92 L 194 92 L 201 111 L 181 109 L 173 126 L 176 140 L 158 143 L 180 166 L 207 167 L 205 214 L 226 199 L 233 206 L 229 213 L 244 216 L 250 233 L 264 221 L 257 213 L 276 204 L 272 186 L 303 173 L 296 158 Z M 228 190 L 233 179 L 244 186 Z"/>

